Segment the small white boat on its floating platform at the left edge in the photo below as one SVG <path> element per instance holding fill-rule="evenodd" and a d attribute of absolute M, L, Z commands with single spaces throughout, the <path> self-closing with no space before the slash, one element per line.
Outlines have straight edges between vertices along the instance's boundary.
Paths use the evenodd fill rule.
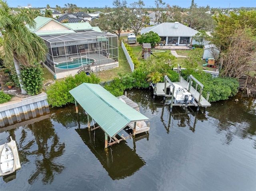
<path fill-rule="evenodd" d="M 0 176 L 11 174 L 21 167 L 16 142 L 12 137 L 10 139 L 9 143 L 0 145 Z"/>

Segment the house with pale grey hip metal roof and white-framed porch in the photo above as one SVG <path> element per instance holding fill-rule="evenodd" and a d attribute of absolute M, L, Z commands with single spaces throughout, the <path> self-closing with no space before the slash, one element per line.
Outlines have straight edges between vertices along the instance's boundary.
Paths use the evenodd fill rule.
<path fill-rule="evenodd" d="M 189 28 L 179 22 L 165 22 L 141 30 L 141 34 L 153 31 L 158 33 L 161 38 L 160 44 L 163 45 L 187 45 L 198 44 L 192 39 L 198 31 Z"/>

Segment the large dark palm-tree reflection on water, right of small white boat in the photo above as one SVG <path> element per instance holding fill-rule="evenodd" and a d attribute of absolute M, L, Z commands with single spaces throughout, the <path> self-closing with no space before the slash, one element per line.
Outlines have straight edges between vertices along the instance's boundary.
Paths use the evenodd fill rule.
<path fill-rule="evenodd" d="M 64 169 L 64 166 L 57 162 L 57 158 L 63 154 L 65 144 L 59 143 L 59 137 L 50 118 L 29 124 L 26 128 L 33 133 L 38 146 L 38 150 L 32 153 L 36 155 L 36 171 L 30 175 L 28 183 L 32 184 L 40 177 L 40 174 L 44 184 L 52 183 L 54 175 L 61 173 Z"/>

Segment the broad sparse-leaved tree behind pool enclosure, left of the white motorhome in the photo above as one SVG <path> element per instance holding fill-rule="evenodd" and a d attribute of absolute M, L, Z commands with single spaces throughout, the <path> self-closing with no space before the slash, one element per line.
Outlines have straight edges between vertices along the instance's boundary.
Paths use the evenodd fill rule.
<path fill-rule="evenodd" d="M 113 11 L 109 7 L 105 7 L 106 14 L 100 14 L 99 19 L 93 23 L 94 26 L 98 26 L 101 30 L 110 33 L 115 33 L 120 37 L 123 28 L 128 28 L 129 12 L 127 8 L 126 0 L 122 2 L 120 0 L 113 1 Z"/>

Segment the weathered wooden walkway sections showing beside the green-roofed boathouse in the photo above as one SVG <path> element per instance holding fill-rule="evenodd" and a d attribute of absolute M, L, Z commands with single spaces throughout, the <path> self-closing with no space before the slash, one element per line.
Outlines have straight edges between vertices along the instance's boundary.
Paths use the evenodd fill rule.
<path fill-rule="evenodd" d="M 134 101 L 130 100 L 125 95 L 118 97 L 120 100 L 124 101 L 128 106 L 134 108 L 138 112 L 140 112 L 140 106 L 136 104 Z M 148 132 L 150 130 L 149 125 L 146 124 L 145 121 L 136 121 L 136 127 L 134 128 L 134 122 L 130 122 L 127 126 L 132 129 L 132 135 L 135 136 L 136 134 Z"/>

